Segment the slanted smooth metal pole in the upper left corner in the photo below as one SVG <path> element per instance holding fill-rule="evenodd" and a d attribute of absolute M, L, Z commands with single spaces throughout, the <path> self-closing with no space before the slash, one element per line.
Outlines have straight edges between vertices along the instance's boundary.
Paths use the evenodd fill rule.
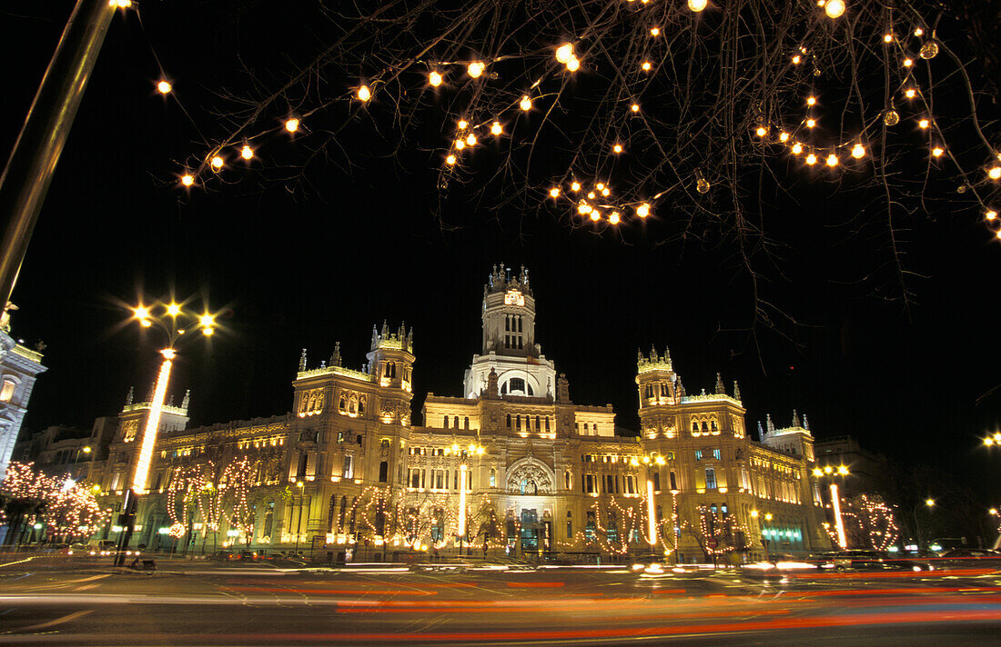
<path fill-rule="evenodd" d="M 10 300 L 31 233 L 116 6 L 77 0 L 0 175 L 0 305 Z"/>

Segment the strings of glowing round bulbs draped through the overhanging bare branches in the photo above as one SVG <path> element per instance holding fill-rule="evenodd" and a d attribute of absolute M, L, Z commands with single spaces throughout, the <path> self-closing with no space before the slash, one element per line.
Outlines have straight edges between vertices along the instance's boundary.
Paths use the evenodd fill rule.
<path fill-rule="evenodd" d="M 137 10 L 128 0 L 111 0 L 111 4 Z M 517 53 L 494 51 L 488 57 L 466 60 L 437 60 L 428 58 L 432 56 L 428 46 L 413 56 L 392 61 L 383 69 L 359 80 L 353 87 L 346 88 L 343 94 L 329 101 L 320 101 L 311 109 L 298 110 L 294 114 L 275 114 L 277 103 L 272 97 L 263 102 L 256 113 L 269 112 L 276 118 L 276 125 L 251 132 L 255 121 L 242 122 L 218 143 L 210 145 L 206 153 L 194 156 L 193 162 L 186 164 L 178 174 L 179 183 L 186 189 L 204 185 L 235 168 L 234 161 L 242 161 L 243 167 L 252 162 L 264 164 L 252 142 L 280 133 L 289 141 L 295 141 L 297 135 L 311 132 L 304 130 L 305 120 L 321 119 L 321 112 L 326 108 L 346 105 L 350 114 L 355 115 L 370 110 L 380 100 L 398 104 L 401 99 L 393 96 L 391 88 L 400 89 L 397 95 L 406 94 L 408 89 L 423 89 L 441 97 L 449 94 L 454 97 L 449 104 L 451 109 L 447 111 L 449 117 L 442 132 L 445 143 L 440 148 L 441 176 L 447 178 L 474 172 L 475 150 L 491 143 L 514 147 L 522 139 L 534 141 L 538 133 L 530 132 L 523 138 L 516 132 L 516 126 L 524 127 L 534 114 L 550 119 L 550 114 L 560 105 L 565 93 L 572 92 L 574 82 L 580 75 L 593 77 L 599 73 L 596 49 L 606 45 L 600 42 L 602 34 L 598 33 L 596 25 L 604 26 L 609 33 L 613 27 L 626 25 L 622 28 L 635 27 L 647 36 L 642 46 L 630 44 L 629 56 L 622 61 L 621 69 L 611 74 L 610 93 L 616 95 L 615 101 L 622 108 L 614 109 L 612 123 L 600 133 L 601 137 L 576 143 L 579 152 L 587 147 L 587 152 L 594 153 L 594 162 L 586 165 L 590 170 L 572 166 L 560 172 L 558 179 L 542 189 L 540 197 L 571 214 L 578 222 L 602 228 L 643 222 L 655 215 L 658 205 L 667 202 L 670 195 L 679 191 L 692 195 L 688 193 L 689 188 L 694 189 L 697 196 L 705 196 L 707 202 L 703 208 L 712 209 L 710 201 L 714 197 L 714 187 L 723 185 L 736 191 L 734 179 L 726 176 L 725 169 L 713 168 L 712 164 L 703 160 L 686 170 L 685 159 L 662 160 L 656 162 L 658 168 L 665 164 L 670 167 L 674 181 L 657 186 L 638 181 L 626 170 L 628 164 L 620 164 L 619 161 L 625 158 L 645 159 L 649 155 L 665 153 L 663 148 L 658 150 L 659 135 L 654 130 L 663 106 L 653 96 L 652 88 L 659 75 L 667 75 L 676 65 L 676 53 L 670 51 L 674 42 L 671 38 L 690 32 L 692 38 L 697 39 L 701 35 L 699 30 L 707 24 L 704 16 L 720 13 L 727 7 L 717 6 L 708 0 L 688 0 L 684 4 L 680 1 L 614 0 L 610 3 L 588 3 L 587 6 L 596 11 L 600 9 L 600 13 L 584 21 L 582 24 L 586 27 L 575 28 L 570 17 L 567 25 L 547 25 L 554 29 L 554 41 L 549 47 Z M 935 115 L 932 62 L 941 61 L 940 54 L 945 51 L 949 54 L 946 58 L 957 64 L 957 69 L 951 74 L 965 75 L 958 58 L 938 37 L 937 21 L 924 19 L 909 2 L 889 3 L 874 9 L 846 0 L 816 0 L 797 4 L 795 11 L 799 13 L 775 19 L 777 24 L 787 21 L 779 25 L 781 38 L 777 37 L 776 51 L 785 47 L 786 40 L 795 42 L 798 39 L 799 42 L 786 50 L 783 60 L 769 59 L 765 61 L 769 66 L 767 69 L 749 70 L 746 74 L 748 78 L 757 74 L 776 79 L 775 83 L 785 83 L 783 87 L 792 90 L 776 101 L 792 100 L 790 97 L 799 94 L 802 105 L 788 110 L 788 106 L 782 105 L 768 110 L 754 107 L 752 113 L 758 116 L 752 114 L 749 117 L 748 132 L 742 134 L 735 131 L 729 136 L 743 138 L 757 146 L 762 156 L 788 158 L 792 162 L 791 172 L 805 173 L 802 177 L 807 180 L 838 182 L 846 173 L 878 173 L 883 178 L 888 177 L 884 156 L 887 155 L 885 149 L 889 142 L 898 138 L 904 144 L 911 131 L 916 132 L 925 147 L 929 172 L 946 177 L 949 169 L 953 169 L 952 175 L 958 180 L 956 193 L 965 194 L 964 199 L 972 199 L 979 205 L 990 231 L 1001 239 L 1001 221 L 997 218 L 996 208 L 990 204 L 1001 182 L 1001 154 L 983 133 L 973 106 L 972 128 L 977 133 L 974 139 L 979 139 L 977 146 L 983 151 L 980 154 L 981 169 L 972 170 L 969 160 L 975 153 L 961 150 L 969 149 L 965 140 L 961 146 L 951 146 L 948 139 L 953 126 L 942 124 Z M 865 22 L 861 20 L 863 15 Z M 472 16 L 470 12 L 462 14 L 459 19 L 471 21 Z M 561 42 L 557 40 L 559 32 L 555 31 L 556 27 L 563 28 L 564 34 L 578 35 Z M 825 99 L 822 88 L 818 88 L 821 77 L 826 74 L 818 48 L 826 52 L 844 45 L 838 40 L 842 33 L 848 34 L 845 42 L 854 39 L 853 42 L 859 43 L 858 52 L 866 50 L 866 53 L 882 61 L 887 91 L 879 110 L 860 115 L 855 132 L 832 137 L 832 128 L 827 127 L 829 124 L 840 122 L 842 130 L 845 130 L 846 99 Z M 869 37 L 873 38 L 872 42 L 882 45 L 881 51 L 870 47 L 870 41 L 866 40 Z M 545 38 L 545 34 L 538 38 Z M 852 56 L 855 55 L 853 50 Z M 512 61 L 522 62 L 521 78 L 509 78 Z M 919 72 L 922 78 L 919 78 Z M 927 79 L 924 79 L 926 73 Z M 498 79 L 506 79 L 509 85 L 500 87 Z M 854 87 L 858 83 L 858 79 L 851 80 L 848 85 L 852 87 L 848 94 L 858 94 L 857 99 L 861 103 L 863 89 Z M 156 81 L 156 88 L 163 95 L 173 93 L 173 82 L 165 72 Z M 462 104 L 463 93 L 469 93 L 474 98 Z M 644 98 L 648 94 L 652 95 L 652 103 L 645 105 Z M 488 105 L 483 106 L 482 102 L 487 99 Z M 734 125 L 739 127 L 742 123 L 745 122 L 734 122 Z M 709 126 L 701 128 L 703 131 L 711 129 Z M 328 130 L 326 124 L 323 124 L 322 130 Z M 646 139 L 641 134 L 646 135 Z M 721 137 L 725 135 L 728 133 L 723 133 Z M 577 155 L 575 159 L 583 157 Z M 699 208 L 698 203 L 696 208 Z"/>

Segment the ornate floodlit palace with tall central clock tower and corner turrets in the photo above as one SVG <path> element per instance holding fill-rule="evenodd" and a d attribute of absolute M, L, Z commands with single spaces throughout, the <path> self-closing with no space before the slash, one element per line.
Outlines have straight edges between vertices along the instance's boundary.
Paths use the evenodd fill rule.
<path fill-rule="evenodd" d="M 163 546 L 173 528 L 196 547 L 319 559 L 485 551 L 702 561 L 707 550 L 829 547 L 809 485 L 809 432 L 753 442 L 739 393 L 721 384 L 688 396 L 670 357 L 653 353 L 638 367 L 642 434 L 622 435 L 611 405 L 571 400 L 535 318 L 526 270 L 494 268 L 459 397 L 427 394 L 422 426 L 410 421 L 413 333 L 385 323 L 360 370 L 342 365 L 339 343 L 318 367 L 303 350 L 289 414 L 187 429 L 186 398 L 166 408 L 133 541 Z M 111 500 L 147 414 L 129 404 L 120 415 L 95 478 Z"/>

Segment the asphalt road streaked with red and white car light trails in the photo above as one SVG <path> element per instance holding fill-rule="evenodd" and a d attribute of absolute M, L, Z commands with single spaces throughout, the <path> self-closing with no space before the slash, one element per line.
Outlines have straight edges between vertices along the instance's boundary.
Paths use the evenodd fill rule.
<path fill-rule="evenodd" d="M 1001 573 L 0 567 L 0 644 L 1001 645 Z"/>

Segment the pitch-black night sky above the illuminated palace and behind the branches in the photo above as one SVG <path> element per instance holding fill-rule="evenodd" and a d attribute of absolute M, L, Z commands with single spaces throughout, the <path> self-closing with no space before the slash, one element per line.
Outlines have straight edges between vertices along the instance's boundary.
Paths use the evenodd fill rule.
<path fill-rule="evenodd" d="M 4 156 L 71 3 L 45 4 L 0 13 Z M 270 32 L 259 18 L 204 3 L 148 3 L 145 12 L 178 96 L 209 131 L 218 104 L 210 90 L 238 83 L 237 51 L 258 73 L 287 68 L 272 41 L 295 26 L 276 21 Z M 415 405 L 427 391 L 458 395 L 490 265 L 525 263 L 544 352 L 567 373 L 575 401 L 614 404 L 626 427 L 637 426 L 637 348 L 669 344 L 690 392 L 711 388 L 717 371 L 728 388 L 739 380 L 752 424 L 766 412 L 788 423 L 796 407 L 818 438 L 851 434 L 997 491 L 979 437 L 997 429 L 1001 398 L 976 399 L 1001 383 L 1001 248 L 973 211 L 900 223 L 913 272 L 906 309 L 889 298 L 897 293 L 881 252 L 867 251 L 884 249 L 879 229 L 850 237 L 830 228 L 858 208 L 852 197 L 832 200 L 818 187 L 798 204 L 777 203 L 770 218 L 791 246 L 764 287 L 799 325 L 780 324 L 791 339 L 768 326 L 755 337 L 746 330 L 750 281 L 726 241 L 710 233 L 658 246 L 653 228 L 599 236 L 552 215 L 489 213 L 461 186 L 445 207 L 457 228 L 442 229 L 430 216 L 437 162 L 419 151 L 371 159 L 366 151 L 378 146 L 368 147 L 376 136 L 367 124 L 340 142 L 357 162 L 352 172 L 315 165 L 308 190 L 235 182 L 185 195 L 172 186 L 174 160 L 201 148 L 177 106 L 155 95 L 156 77 L 134 16 L 117 19 L 14 293 L 14 335 L 48 344 L 31 431 L 87 427 L 114 414 L 129 385 L 145 393 L 156 340 L 121 325 L 121 305 L 140 293 L 226 310 L 226 329 L 187 346 L 173 380 L 178 398 L 192 389 L 193 424 L 287 411 L 300 348 L 317 364 L 340 341 L 345 363 L 360 367 L 383 318 L 413 327 Z M 258 153 L 267 159 L 289 145 L 274 140 Z M 658 216 L 670 219 L 670 205 Z"/>

